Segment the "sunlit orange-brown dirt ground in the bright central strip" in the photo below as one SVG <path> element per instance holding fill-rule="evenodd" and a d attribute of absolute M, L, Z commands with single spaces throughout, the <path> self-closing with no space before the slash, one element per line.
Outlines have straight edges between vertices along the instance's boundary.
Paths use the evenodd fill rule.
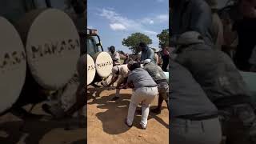
<path fill-rule="evenodd" d="M 89 89 L 90 92 L 94 88 Z M 87 98 L 87 142 L 90 144 L 113 143 L 169 143 L 169 112 L 163 102 L 161 114 L 150 113 L 146 130 L 140 128 L 141 115 L 136 114 L 134 126 L 126 126 L 124 119 L 128 112 L 132 90 L 121 90 L 122 97 L 111 101 L 115 90 L 97 90 L 98 94 Z M 158 98 L 150 108 L 157 106 Z"/>

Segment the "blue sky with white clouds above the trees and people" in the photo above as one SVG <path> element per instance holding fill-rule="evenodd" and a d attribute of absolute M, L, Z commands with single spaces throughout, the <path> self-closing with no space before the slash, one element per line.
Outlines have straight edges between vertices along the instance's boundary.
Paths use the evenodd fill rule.
<path fill-rule="evenodd" d="M 122 46 L 122 39 L 140 32 L 158 47 L 157 34 L 168 28 L 168 0 L 87 0 L 87 26 L 98 30 L 104 50 L 131 51 Z"/>

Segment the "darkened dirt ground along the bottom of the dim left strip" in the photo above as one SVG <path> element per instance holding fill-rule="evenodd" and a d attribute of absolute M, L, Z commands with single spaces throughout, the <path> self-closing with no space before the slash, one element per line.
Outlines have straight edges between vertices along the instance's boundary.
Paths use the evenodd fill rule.
<path fill-rule="evenodd" d="M 52 120 L 42 112 L 42 104 L 32 110 L 34 115 L 20 119 L 13 114 L 0 117 L 1 144 L 85 144 L 86 119 Z M 26 106 L 28 110 L 30 106 Z M 83 128 L 82 128 L 83 127 Z"/>

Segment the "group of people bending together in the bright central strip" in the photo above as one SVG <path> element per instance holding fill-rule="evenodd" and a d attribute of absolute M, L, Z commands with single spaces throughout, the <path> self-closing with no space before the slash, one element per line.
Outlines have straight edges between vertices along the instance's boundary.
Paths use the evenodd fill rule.
<path fill-rule="evenodd" d="M 154 61 L 154 50 L 146 46 L 144 42 L 139 43 L 138 48 L 142 51 L 140 62 L 130 58 L 128 62 L 120 64 L 119 54 L 115 52 L 114 46 L 110 46 L 109 50 L 114 66 L 112 68 L 111 80 L 105 82 L 104 86 L 111 86 L 114 82 L 117 82 L 116 94 L 112 98 L 114 101 L 121 97 L 121 89 L 133 88 L 134 92 L 130 98 L 125 123 L 127 126 L 132 126 L 136 108 L 141 104 L 142 120 L 140 125 L 142 129 L 146 129 L 147 118 L 150 113 L 150 103 L 154 101 L 154 98 L 159 94 L 158 106 L 151 110 L 152 112 L 160 114 L 164 100 L 168 106 L 169 85 L 166 74 Z"/>

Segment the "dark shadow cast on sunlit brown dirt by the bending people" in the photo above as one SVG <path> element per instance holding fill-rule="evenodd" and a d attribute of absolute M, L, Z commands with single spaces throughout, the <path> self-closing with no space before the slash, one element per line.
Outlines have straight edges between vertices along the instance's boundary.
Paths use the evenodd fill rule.
<path fill-rule="evenodd" d="M 114 94 L 102 96 L 102 98 L 94 98 L 92 102 L 88 102 L 88 105 L 98 104 L 97 107 L 99 109 L 106 109 L 105 112 L 96 114 L 96 117 L 101 120 L 103 130 L 107 134 L 122 134 L 130 129 L 130 127 L 126 126 L 124 122 L 127 116 L 131 94 L 121 94 L 121 98 L 119 98 L 117 101 L 111 101 L 113 97 Z M 150 113 L 149 119 L 150 118 L 154 118 L 163 126 L 169 128 L 168 124 L 164 122 L 162 118 L 159 118 L 157 114 Z M 134 126 L 140 128 L 140 120 L 141 116 L 135 114 Z"/>

